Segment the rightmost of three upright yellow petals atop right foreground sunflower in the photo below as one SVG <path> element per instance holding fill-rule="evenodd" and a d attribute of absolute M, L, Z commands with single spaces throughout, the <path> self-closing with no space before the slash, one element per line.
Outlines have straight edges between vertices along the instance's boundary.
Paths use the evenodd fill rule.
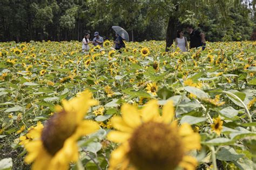
<path fill-rule="evenodd" d="M 163 121 L 164 123 L 170 123 L 174 117 L 173 101 L 169 100 L 163 107 Z"/>

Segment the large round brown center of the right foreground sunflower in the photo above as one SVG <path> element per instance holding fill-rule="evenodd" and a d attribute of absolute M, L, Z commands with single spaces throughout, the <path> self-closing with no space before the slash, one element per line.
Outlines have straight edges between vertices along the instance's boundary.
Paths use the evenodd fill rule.
<path fill-rule="evenodd" d="M 129 141 L 128 154 L 138 169 L 174 169 L 184 155 L 178 129 L 150 121 L 140 125 Z"/>

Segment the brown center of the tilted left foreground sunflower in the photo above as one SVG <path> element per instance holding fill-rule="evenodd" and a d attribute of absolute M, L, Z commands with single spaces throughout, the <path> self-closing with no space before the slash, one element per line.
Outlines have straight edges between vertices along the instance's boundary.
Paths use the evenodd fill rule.
<path fill-rule="evenodd" d="M 66 113 L 64 110 L 53 114 L 46 122 L 42 132 L 42 141 L 46 151 L 52 156 L 55 155 L 75 130 L 76 120 L 72 114 Z"/>

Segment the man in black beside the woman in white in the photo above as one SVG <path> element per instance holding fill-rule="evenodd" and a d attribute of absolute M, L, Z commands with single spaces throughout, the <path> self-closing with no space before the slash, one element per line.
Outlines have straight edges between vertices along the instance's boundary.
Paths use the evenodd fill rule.
<path fill-rule="evenodd" d="M 190 48 L 202 46 L 205 49 L 205 34 L 198 30 L 194 30 L 192 26 L 187 26 L 187 32 L 190 33 Z"/>

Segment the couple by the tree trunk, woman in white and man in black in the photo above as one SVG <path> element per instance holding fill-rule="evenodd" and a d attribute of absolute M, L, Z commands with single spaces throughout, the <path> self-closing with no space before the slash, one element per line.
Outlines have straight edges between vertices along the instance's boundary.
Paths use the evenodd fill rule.
<path fill-rule="evenodd" d="M 187 32 L 190 34 L 190 49 L 194 47 L 202 47 L 205 49 L 205 34 L 198 30 L 194 30 L 192 26 L 187 26 Z M 175 39 L 176 45 L 183 52 L 188 51 L 187 38 L 184 37 L 184 32 L 182 30 L 177 31 L 177 38 Z"/>

